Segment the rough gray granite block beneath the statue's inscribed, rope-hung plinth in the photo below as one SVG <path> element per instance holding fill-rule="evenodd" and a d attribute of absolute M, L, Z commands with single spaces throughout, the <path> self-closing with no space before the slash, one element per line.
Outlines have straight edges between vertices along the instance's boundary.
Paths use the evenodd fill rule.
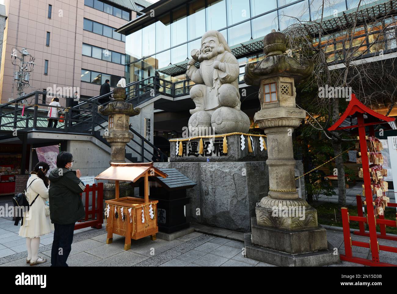
<path fill-rule="evenodd" d="M 197 183 L 187 190 L 191 217 L 197 223 L 233 231 L 251 231 L 250 217 L 268 192 L 265 161 L 162 162 Z"/>

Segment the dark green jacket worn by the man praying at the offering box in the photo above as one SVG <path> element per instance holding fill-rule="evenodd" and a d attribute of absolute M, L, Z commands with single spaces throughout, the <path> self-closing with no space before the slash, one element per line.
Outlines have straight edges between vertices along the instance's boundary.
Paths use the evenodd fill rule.
<path fill-rule="evenodd" d="M 68 225 L 83 219 L 85 211 L 80 193 L 84 191 L 85 184 L 66 168 L 53 169 L 48 179 L 51 222 Z"/>

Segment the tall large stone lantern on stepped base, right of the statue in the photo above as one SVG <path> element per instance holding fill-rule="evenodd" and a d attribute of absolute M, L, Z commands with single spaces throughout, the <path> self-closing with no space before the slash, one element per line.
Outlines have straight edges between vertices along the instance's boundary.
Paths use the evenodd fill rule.
<path fill-rule="evenodd" d="M 300 265 L 334 263 L 332 252 L 327 250 L 326 230 L 318 226 L 316 209 L 299 198 L 295 187 L 292 133 L 306 117 L 306 112 L 295 106 L 295 82 L 310 75 L 313 63 L 308 60 L 300 64 L 284 55 L 287 47 L 283 33 L 272 30 L 263 43 L 266 58 L 245 66 L 244 81 L 259 86 L 260 110 L 254 121 L 267 135 L 269 192 L 256 204 L 247 257 L 277 265 L 298 265 L 298 260 Z M 319 250 L 329 258 L 297 259 L 299 254 Z M 280 252 L 285 253 L 283 258 Z"/>

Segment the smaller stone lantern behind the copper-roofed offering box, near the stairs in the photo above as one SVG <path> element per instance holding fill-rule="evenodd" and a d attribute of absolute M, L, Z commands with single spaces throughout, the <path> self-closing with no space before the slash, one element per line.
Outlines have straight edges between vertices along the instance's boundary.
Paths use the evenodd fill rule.
<path fill-rule="evenodd" d="M 138 115 L 141 110 L 135 108 L 131 103 L 125 102 L 125 89 L 116 87 L 113 90 L 114 101 L 108 103 L 105 107 L 98 106 L 98 112 L 102 115 L 108 115 L 108 130 L 103 137 L 110 144 L 110 161 L 109 164 L 125 163 L 125 145 L 131 141 L 134 135 L 129 131 L 129 117 Z M 104 201 L 114 199 L 116 188 L 114 181 L 104 184 Z M 132 188 L 128 183 L 119 183 L 120 197 L 131 196 Z"/>

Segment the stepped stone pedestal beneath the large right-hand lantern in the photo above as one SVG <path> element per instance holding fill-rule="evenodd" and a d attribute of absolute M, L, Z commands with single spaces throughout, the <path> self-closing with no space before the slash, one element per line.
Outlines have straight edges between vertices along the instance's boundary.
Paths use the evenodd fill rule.
<path fill-rule="evenodd" d="M 323 266 L 339 263 L 327 242 L 326 229 L 286 231 L 266 228 L 251 218 L 252 234 L 245 234 L 245 256 L 278 266 Z"/>

